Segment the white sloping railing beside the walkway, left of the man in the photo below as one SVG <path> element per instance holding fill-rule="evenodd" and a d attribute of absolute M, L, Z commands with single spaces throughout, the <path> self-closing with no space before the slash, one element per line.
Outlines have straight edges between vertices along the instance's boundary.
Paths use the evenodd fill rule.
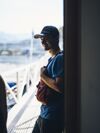
<path fill-rule="evenodd" d="M 30 97 L 35 95 L 36 84 L 39 81 L 39 70 L 40 67 L 47 63 L 48 56 L 46 54 L 32 64 L 1 73 L 6 85 L 8 100 L 13 99 L 14 101 L 14 106 L 8 111 L 8 129 L 12 126 L 13 120 L 19 114 L 20 110 L 25 107 L 25 103 L 27 103 Z M 8 84 L 9 81 L 16 84 L 11 87 Z"/>

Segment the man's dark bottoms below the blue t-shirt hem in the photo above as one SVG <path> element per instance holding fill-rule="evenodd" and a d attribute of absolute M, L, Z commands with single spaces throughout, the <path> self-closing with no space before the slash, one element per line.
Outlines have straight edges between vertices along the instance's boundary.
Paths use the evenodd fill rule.
<path fill-rule="evenodd" d="M 63 124 L 56 120 L 37 119 L 32 133 L 62 133 Z"/>

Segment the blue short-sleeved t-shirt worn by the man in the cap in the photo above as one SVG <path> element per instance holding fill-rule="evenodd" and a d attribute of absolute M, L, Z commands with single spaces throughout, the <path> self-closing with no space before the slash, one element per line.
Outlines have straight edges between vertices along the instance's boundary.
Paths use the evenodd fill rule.
<path fill-rule="evenodd" d="M 54 58 L 48 60 L 47 72 L 50 78 L 56 79 L 57 77 L 64 77 L 64 59 L 63 52 L 57 54 Z M 64 85 L 61 88 L 64 89 Z M 63 115 L 64 101 L 63 94 L 59 99 L 47 105 L 41 106 L 40 116 L 45 119 L 57 120 Z"/>

